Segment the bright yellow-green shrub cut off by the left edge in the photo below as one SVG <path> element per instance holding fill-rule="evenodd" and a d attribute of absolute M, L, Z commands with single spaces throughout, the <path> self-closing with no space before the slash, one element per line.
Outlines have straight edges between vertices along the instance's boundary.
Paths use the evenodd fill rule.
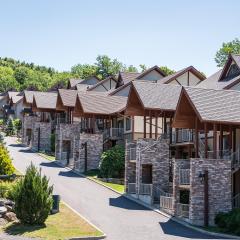
<path fill-rule="evenodd" d="M 6 147 L 0 144 L 0 175 L 11 175 L 15 171 Z"/>

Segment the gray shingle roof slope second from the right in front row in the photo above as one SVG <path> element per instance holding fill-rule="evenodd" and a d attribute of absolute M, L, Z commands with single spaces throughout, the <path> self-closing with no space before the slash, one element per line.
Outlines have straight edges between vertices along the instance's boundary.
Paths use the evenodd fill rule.
<path fill-rule="evenodd" d="M 176 110 L 181 93 L 181 86 L 142 81 L 134 81 L 132 84 L 145 108 L 172 111 Z"/>

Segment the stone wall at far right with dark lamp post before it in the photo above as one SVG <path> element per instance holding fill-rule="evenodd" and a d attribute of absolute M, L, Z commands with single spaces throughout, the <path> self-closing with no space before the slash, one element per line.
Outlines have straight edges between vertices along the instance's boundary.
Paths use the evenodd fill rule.
<path fill-rule="evenodd" d="M 231 160 L 191 159 L 190 162 L 190 222 L 203 225 L 204 184 L 199 173 L 208 170 L 209 224 L 219 212 L 232 209 Z"/>

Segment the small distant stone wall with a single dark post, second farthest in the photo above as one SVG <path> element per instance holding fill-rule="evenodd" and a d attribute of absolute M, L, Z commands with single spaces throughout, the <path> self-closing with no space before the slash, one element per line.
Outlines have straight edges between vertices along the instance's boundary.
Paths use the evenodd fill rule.
<path fill-rule="evenodd" d="M 52 124 L 50 122 L 35 122 L 32 134 L 32 148 L 34 150 L 51 151 Z"/>

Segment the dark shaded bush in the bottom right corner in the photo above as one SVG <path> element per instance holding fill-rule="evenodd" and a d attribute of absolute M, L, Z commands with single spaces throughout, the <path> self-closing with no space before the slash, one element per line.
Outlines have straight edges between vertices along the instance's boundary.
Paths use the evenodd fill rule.
<path fill-rule="evenodd" d="M 240 235 L 240 209 L 217 214 L 215 224 L 224 232 Z"/>

